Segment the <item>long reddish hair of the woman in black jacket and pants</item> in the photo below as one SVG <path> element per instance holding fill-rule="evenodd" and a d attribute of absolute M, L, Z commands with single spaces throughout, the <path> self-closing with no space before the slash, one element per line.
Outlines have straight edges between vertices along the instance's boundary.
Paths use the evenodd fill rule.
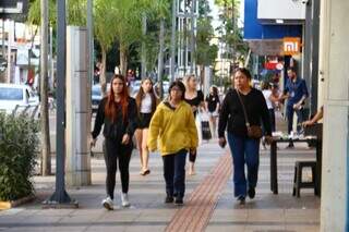
<path fill-rule="evenodd" d="M 129 89 L 127 86 L 127 82 L 123 77 L 123 75 L 119 75 L 116 74 L 111 81 L 110 81 L 110 90 L 109 90 L 109 95 L 108 95 L 108 99 L 107 99 L 107 103 L 105 107 L 105 112 L 106 112 L 106 117 L 111 120 L 112 122 L 116 121 L 117 118 L 117 106 L 116 106 L 116 101 L 115 101 L 115 93 L 112 89 L 112 83 L 115 80 L 121 80 L 123 83 L 123 87 L 122 87 L 122 91 L 120 94 L 121 100 L 120 100 L 120 105 L 121 105 L 121 112 L 122 112 L 122 120 L 125 122 L 127 118 L 128 118 L 128 107 L 129 107 Z"/>

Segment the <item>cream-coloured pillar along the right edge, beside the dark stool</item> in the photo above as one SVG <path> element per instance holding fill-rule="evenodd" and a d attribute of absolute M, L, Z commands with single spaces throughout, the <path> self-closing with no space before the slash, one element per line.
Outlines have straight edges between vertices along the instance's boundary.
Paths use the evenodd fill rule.
<path fill-rule="evenodd" d="M 321 231 L 348 231 L 349 1 L 321 1 L 320 78 L 324 78 Z"/>

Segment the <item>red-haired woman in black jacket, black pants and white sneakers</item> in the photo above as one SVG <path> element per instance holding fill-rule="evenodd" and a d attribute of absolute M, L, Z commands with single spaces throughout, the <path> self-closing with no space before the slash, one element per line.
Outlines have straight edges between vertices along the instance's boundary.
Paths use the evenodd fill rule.
<path fill-rule="evenodd" d="M 95 127 L 92 132 L 92 146 L 95 146 L 104 124 L 108 197 L 103 200 L 103 206 L 108 210 L 113 209 L 113 191 L 118 162 L 122 185 L 121 203 L 123 207 L 130 206 L 128 197 L 129 164 L 133 149 L 132 136 L 136 129 L 137 120 L 136 103 L 133 98 L 129 97 L 124 77 L 115 75 L 110 83 L 110 91 L 99 103 Z"/>

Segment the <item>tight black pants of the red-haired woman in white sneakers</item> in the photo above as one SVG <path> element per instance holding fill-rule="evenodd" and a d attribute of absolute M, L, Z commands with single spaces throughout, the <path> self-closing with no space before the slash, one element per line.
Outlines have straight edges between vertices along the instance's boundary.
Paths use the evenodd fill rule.
<path fill-rule="evenodd" d="M 107 167 L 107 194 L 113 199 L 113 191 L 116 187 L 116 174 L 118 164 L 120 169 L 122 193 L 129 192 L 130 172 L 129 166 L 132 154 L 132 144 L 122 145 L 113 139 L 105 139 L 104 154 Z M 119 163 L 118 163 L 119 162 Z"/>

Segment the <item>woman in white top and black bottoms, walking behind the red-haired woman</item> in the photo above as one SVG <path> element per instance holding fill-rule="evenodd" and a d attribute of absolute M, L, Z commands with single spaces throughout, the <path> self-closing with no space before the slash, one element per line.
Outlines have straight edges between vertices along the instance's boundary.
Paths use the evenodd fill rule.
<path fill-rule="evenodd" d="M 147 77 L 142 81 L 141 88 L 135 97 L 135 101 L 139 112 L 139 126 L 135 136 L 142 166 L 140 174 L 147 175 L 151 173 L 151 170 L 148 169 L 149 151 L 146 146 L 146 142 L 151 120 L 158 102 L 158 99 L 154 94 L 153 82 L 151 78 Z"/>

